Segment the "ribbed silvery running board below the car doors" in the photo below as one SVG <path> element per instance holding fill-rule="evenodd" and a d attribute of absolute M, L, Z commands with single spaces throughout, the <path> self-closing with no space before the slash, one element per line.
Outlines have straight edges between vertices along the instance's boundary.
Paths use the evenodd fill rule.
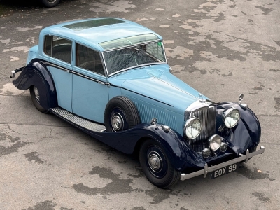
<path fill-rule="evenodd" d="M 84 118 L 80 118 L 79 116 L 62 109 L 61 107 L 50 108 L 50 112 L 54 113 L 56 116 L 64 118 L 64 120 L 69 121 L 73 125 L 77 125 L 78 127 L 83 127 L 87 130 L 91 130 L 93 132 L 103 132 L 105 130 L 104 125 L 100 125 L 98 123 L 92 123 L 92 121 L 85 120 Z"/>

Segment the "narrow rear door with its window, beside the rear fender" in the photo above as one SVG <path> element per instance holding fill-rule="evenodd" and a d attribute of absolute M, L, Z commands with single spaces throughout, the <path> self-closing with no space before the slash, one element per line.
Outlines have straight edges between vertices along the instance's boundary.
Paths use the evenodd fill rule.
<path fill-rule="evenodd" d="M 45 54 L 50 56 L 48 70 L 55 82 L 58 106 L 72 112 L 72 41 L 59 36 L 45 36 L 44 49 Z"/>

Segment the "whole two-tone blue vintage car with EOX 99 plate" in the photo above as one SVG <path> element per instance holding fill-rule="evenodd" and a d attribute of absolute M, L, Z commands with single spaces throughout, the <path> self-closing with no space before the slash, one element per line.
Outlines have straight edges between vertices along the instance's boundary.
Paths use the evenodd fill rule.
<path fill-rule="evenodd" d="M 147 179 L 177 181 L 238 169 L 265 148 L 246 104 L 215 103 L 170 73 L 162 37 L 118 18 L 43 29 L 27 65 L 10 78 L 53 113 L 123 153 L 139 155 Z M 211 173 L 210 173 L 211 172 Z"/>

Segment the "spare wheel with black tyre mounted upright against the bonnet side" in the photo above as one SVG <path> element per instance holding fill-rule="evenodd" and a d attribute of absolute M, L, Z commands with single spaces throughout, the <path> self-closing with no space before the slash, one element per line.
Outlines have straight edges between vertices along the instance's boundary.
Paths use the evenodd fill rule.
<path fill-rule="evenodd" d="M 113 97 L 105 109 L 104 124 L 107 132 L 120 132 L 140 123 L 137 107 L 127 97 Z"/>

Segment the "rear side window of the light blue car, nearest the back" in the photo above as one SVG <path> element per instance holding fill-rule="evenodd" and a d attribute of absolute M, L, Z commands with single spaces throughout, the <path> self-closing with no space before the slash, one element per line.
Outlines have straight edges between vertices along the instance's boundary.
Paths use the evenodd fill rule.
<path fill-rule="evenodd" d="M 44 52 L 46 55 L 71 63 L 72 41 L 59 36 L 45 36 Z"/>

